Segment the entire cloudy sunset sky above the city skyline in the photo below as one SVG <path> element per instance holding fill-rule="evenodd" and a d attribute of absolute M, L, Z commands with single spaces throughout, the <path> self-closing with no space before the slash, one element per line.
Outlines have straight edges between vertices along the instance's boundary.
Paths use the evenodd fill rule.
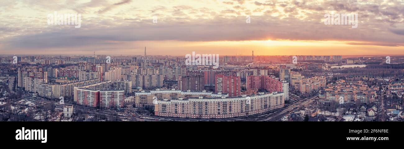
<path fill-rule="evenodd" d="M 1 54 L 404 54 L 403 0 L 1 0 L 0 19 Z"/>

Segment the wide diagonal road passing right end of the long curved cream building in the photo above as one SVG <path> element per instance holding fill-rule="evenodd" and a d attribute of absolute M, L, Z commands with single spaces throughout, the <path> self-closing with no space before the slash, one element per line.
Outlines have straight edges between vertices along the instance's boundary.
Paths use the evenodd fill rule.
<path fill-rule="evenodd" d="M 282 118 L 283 116 L 285 116 L 286 114 L 289 114 L 293 109 L 295 109 L 295 107 L 310 104 L 317 97 L 318 96 L 314 96 L 314 97 L 310 98 L 309 100 L 307 100 L 307 98 L 300 100 L 299 102 L 296 102 L 292 106 L 288 106 L 284 110 L 274 113 L 273 115 L 271 115 L 270 117 L 267 117 L 265 119 L 260 119 L 259 121 L 276 121 L 276 120 Z"/>

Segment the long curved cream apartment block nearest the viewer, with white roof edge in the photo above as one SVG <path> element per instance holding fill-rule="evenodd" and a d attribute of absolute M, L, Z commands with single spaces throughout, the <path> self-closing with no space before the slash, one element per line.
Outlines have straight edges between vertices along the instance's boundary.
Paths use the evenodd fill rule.
<path fill-rule="evenodd" d="M 255 115 L 284 107 L 284 93 L 260 92 L 251 96 L 157 99 L 154 114 L 161 117 L 220 119 Z"/>

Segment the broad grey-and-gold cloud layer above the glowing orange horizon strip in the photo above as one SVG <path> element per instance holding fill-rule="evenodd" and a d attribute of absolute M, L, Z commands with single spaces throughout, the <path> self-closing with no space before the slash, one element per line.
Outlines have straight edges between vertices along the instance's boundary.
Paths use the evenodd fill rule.
<path fill-rule="evenodd" d="M 347 45 L 404 44 L 404 30 L 399 26 L 404 23 L 404 4 L 395 0 L 156 1 L 137 3 L 136 10 L 131 0 L 55 0 L 55 4 L 48 0 L 1 1 L 0 11 L 10 10 L 0 14 L 1 48 L 91 47 L 93 50 L 94 46 L 119 47 L 126 42 L 165 40 L 337 40 Z M 30 10 L 32 15 L 18 14 L 20 9 Z M 46 14 L 54 10 L 82 12 L 82 28 L 47 26 Z M 324 25 L 324 14 L 329 12 L 358 13 L 358 28 Z M 158 23 L 152 23 L 154 15 L 158 16 Z M 245 23 L 245 15 L 251 16 L 251 23 Z"/>

